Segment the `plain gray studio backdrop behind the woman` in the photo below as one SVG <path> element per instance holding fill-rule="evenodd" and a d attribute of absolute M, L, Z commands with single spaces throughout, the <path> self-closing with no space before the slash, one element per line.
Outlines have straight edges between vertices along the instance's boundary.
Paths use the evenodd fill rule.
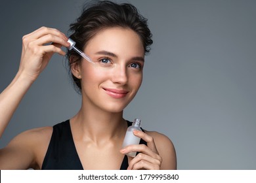
<path fill-rule="evenodd" d="M 64 33 L 84 1 L 1 0 L 0 91 L 18 70 L 22 36 L 42 25 Z M 123 1 L 122 1 L 123 2 Z M 154 35 L 144 81 L 125 118 L 175 144 L 178 169 L 256 169 L 256 1 L 125 1 Z M 0 147 L 80 106 L 62 56 L 53 56 L 16 110 Z"/>

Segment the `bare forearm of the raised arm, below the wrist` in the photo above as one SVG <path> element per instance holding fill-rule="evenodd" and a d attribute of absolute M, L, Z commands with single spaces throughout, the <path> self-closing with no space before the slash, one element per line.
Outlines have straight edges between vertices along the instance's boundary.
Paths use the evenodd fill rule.
<path fill-rule="evenodd" d="M 32 80 L 17 73 L 11 84 L 0 94 L 0 137 L 32 83 Z"/>

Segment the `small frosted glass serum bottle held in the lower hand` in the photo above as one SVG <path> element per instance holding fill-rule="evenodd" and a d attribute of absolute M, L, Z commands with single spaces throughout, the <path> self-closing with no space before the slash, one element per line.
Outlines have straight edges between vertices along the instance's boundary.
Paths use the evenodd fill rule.
<path fill-rule="evenodd" d="M 134 120 L 133 124 L 127 128 L 127 131 L 125 134 L 125 139 L 123 140 L 122 148 L 124 148 L 125 146 L 129 146 L 131 144 L 139 144 L 140 143 L 140 137 L 137 137 L 133 134 L 133 130 L 135 130 L 135 129 L 141 131 L 140 124 L 141 124 L 141 120 L 136 118 Z M 126 155 L 135 157 L 136 152 L 129 152 Z"/>

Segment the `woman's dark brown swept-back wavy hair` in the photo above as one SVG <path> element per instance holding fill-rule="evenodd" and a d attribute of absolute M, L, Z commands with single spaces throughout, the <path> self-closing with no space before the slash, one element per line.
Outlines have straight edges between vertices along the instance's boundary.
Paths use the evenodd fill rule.
<path fill-rule="evenodd" d="M 135 31 L 144 46 L 145 54 L 150 52 L 152 41 L 152 33 L 148 29 L 147 19 L 139 14 L 137 8 L 131 4 L 117 4 L 111 1 L 98 1 L 91 5 L 85 5 L 81 16 L 76 22 L 70 24 L 70 38 L 73 39 L 77 48 L 83 50 L 87 42 L 102 29 L 108 27 L 127 27 Z M 71 61 L 71 57 L 74 57 Z M 79 63 L 81 56 L 68 50 L 67 58 L 69 67 L 73 63 Z M 72 72 L 70 72 L 72 73 Z M 81 92 L 81 82 L 72 75 L 75 87 Z"/>

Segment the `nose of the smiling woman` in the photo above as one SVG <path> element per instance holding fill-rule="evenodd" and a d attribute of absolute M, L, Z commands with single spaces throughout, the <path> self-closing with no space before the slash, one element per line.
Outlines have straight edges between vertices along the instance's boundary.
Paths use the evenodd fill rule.
<path fill-rule="evenodd" d="M 124 65 L 118 65 L 112 73 L 112 82 L 125 85 L 128 82 L 127 68 Z"/>

